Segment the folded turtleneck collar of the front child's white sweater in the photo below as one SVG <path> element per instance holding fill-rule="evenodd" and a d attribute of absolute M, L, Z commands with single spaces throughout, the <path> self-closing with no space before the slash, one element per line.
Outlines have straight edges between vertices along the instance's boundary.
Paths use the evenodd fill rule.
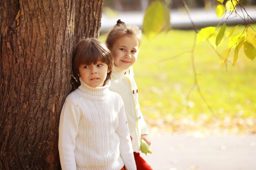
<path fill-rule="evenodd" d="M 88 84 L 85 84 L 81 77 L 79 78 L 79 80 L 81 82 L 81 85 L 78 88 L 84 93 L 89 94 L 91 97 L 95 96 L 99 98 L 99 96 L 105 96 L 109 91 L 108 89 L 110 87 L 109 80 L 107 80 L 105 86 L 102 86 L 102 87 L 91 87 Z"/>

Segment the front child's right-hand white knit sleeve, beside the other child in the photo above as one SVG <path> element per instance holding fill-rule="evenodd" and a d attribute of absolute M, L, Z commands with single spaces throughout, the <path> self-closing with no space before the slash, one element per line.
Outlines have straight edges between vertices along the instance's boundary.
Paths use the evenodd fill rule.
<path fill-rule="evenodd" d="M 120 97 L 120 110 L 118 117 L 118 127 L 116 129 L 117 134 L 120 139 L 120 155 L 124 161 L 124 166 L 126 170 L 137 170 L 135 159 L 132 150 L 132 143 L 130 139 L 130 132 L 128 127 L 128 122 L 126 118 L 126 113 L 124 110 L 124 103 Z"/>

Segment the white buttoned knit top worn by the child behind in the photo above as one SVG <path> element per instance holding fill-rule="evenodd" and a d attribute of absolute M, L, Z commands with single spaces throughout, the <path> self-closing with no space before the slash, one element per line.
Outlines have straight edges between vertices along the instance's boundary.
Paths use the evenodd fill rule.
<path fill-rule="evenodd" d="M 130 136 L 132 137 L 132 149 L 134 152 L 138 152 L 141 150 L 141 135 L 148 134 L 148 128 L 140 110 L 138 88 L 133 75 L 132 66 L 127 70 L 114 66 L 110 90 L 121 95 L 124 101 Z"/>

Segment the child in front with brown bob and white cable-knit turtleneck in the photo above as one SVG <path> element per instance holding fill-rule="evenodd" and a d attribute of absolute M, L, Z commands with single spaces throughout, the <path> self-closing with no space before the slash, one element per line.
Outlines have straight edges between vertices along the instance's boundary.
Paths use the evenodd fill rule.
<path fill-rule="evenodd" d="M 81 85 L 65 99 L 59 124 L 62 170 L 136 170 L 124 103 L 110 91 L 113 56 L 95 38 L 78 43 L 73 73 Z"/>

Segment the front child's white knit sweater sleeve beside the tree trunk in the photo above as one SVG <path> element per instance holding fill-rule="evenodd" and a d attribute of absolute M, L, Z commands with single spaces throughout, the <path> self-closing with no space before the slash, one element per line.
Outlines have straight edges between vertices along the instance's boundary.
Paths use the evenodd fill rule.
<path fill-rule="evenodd" d="M 67 97 L 61 110 L 58 150 L 62 170 L 76 170 L 75 147 L 79 125 L 79 109 L 74 102 Z"/>

